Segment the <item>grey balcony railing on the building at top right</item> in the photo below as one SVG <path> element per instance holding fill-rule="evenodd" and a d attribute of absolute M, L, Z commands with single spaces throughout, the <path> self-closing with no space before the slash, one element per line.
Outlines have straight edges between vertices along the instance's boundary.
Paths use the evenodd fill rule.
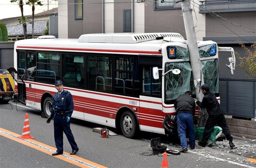
<path fill-rule="evenodd" d="M 227 3 L 223 3 L 223 2 Z M 256 1 L 252 2 L 237 2 L 238 0 L 208 0 L 201 1 L 199 5 L 199 13 L 209 13 L 209 12 L 237 12 L 237 11 L 256 11 Z M 221 3 L 222 2 L 222 3 Z"/>

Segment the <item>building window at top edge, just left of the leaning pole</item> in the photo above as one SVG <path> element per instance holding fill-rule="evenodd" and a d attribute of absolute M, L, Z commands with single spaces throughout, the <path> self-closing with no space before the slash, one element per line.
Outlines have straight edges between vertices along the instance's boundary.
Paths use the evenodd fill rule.
<path fill-rule="evenodd" d="M 154 2 L 154 10 L 181 8 L 180 3 L 175 3 L 174 0 L 154 0 L 153 2 Z"/>

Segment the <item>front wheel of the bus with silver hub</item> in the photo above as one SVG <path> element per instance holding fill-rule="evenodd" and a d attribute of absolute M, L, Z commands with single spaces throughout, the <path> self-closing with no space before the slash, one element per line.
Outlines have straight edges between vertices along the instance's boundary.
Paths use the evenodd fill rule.
<path fill-rule="evenodd" d="M 138 122 L 135 116 L 129 112 L 125 111 L 121 116 L 120 128 L 122 134 L 128 138 L 134 138 L 138 132 Z"/>

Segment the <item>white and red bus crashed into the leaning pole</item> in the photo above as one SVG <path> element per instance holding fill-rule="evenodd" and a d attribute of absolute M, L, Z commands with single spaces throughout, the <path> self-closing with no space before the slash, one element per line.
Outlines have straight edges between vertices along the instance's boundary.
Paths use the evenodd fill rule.
<path fill-rule="evenodd" d="M 198 50 L 204 82 L 219 99 L 218 46 L 199 41 Z M 61 79 L 73 95 L 73 118 L 114 127 L 129 138 L 139 131 L 166 134 L 163 120 L 175 118 L 175 99 L 194 87 L 186 40 L 177 33 L 40 36 L 15 42 L 14 63 L 21 78 L 15 95 L 26 106 L 48 117 L 55 80 Z M 154 79 L 153 67 L 169 72 Z"/>

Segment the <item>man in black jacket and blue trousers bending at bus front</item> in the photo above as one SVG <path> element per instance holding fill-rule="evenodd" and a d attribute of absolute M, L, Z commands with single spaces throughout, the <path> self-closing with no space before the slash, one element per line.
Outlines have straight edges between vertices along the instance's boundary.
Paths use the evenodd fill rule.
<path fill-rule="evenodd" d="M 178 134 L 180 137 L 180 152 L 188 151 L 186 141 L 186 129 L 189 133 L 190 149 L 195 148 L 195 132 L 194 132 L 194 115 L 195 115 L 195 100 L 191 97 L 192 92 L 187 91 L 185 94 L 177 97 L 174 106 L 177 112 Z"/>

